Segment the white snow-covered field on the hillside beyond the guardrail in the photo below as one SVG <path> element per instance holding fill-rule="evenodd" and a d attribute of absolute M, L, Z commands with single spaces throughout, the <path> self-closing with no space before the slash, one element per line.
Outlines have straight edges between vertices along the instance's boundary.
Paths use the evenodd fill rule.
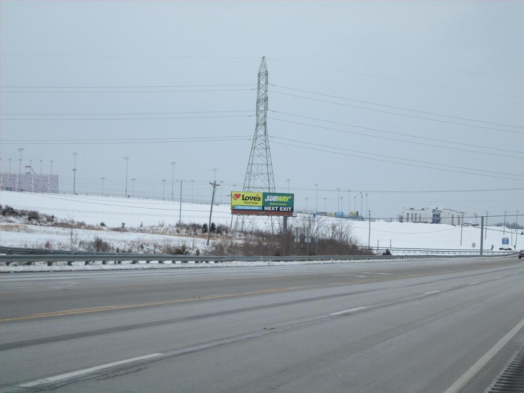
<path fill-rule="evenodd" d="M 0 203 L 15 209 L 36 210 L 41 213 L 53 214 L 60 219 L 84 221 L 86 224 L 97 225 L 104 222 L 107 226 L 119 227 L 125 222 L 127 227 L 176 224 L 179 217 L 179 203 L 170 201 L 150 201 L 139 199 L 110 198 L 87 195 L 39 194 L 27 192 L 1 191 Z M 209 218 L 209 205 L 182 203 L 182 222 L 198 223 L 202 225 Z M 325 225 L 341 219 L 324 218 Z M 299 220 L 300 221 L 300 220 Z M 341 220 L 351 223 L 352 235 L 362 244 L 368 244 L 368 222 Z M 231 214 L 229 206 L 213 206 L 213 222 L 230 225 Z M 297 222 L 297 221 L 295 221 Z M 264 224 L 260 221 L 260 225 Z M 2 228 L 0 227 L 0 230 Z M 446 248 L 446 249 L 473 249 L 480 246 L 481 231 L 478 227 L 462 228 L 446 224 L 422 224 L 372 221 L 370 245 L 397 248 Z M 139 233 L 100 232 L 75 230 L 77 236 L 92 239 L 95 234 L 103 233 L 106 241 L 134 242 L 137 239 L 164 241 L 174 236 L 145 235 Z M 512 238 L 513 236 L 513 238 Z M 511 235 L 506 229 L 503 235 L 502 227 L 488 227 L 484 249 L 489 250 L 494 245 L 495 250 L 501 247 L 502 237 L 509 237 L 510 243 L 515 244 L 515 233 Z M 47 239 L 56 239 L 57 242 L 68 244 L 69 232 L 67 229 L 38 227 L 26 225 L 20 232 L 0 232 L 0 245 L 24 246 L 33 243 L 45 242 Z M 511 239 L 512 238 L 512 239 Z M 201 242 L 201 239 L 181 238 L 181 241 Z M 200 244 L 200 243 L 199 243 Z M 524 247 L 524 236 L 520 235 L 518 246 Z"/>

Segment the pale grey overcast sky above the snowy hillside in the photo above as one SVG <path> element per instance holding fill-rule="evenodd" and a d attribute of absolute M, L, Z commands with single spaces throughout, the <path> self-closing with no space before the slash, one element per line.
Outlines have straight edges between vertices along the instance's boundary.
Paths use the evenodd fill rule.
<path fill-rule="evenodd" d="M 269 83 L 284 86 L 270 86 L 269 109 L 286 113 L 268 113 L 275 181 L 286 191 L 291 179 L 297 207 L 308 197 L 315 208 L 318 183 L 319 210 L 324 197 L 336 210 L 329 190 L 340 188 L 367 190 L 373 216 L 396 216 L 403 206 L 524 213 L 522 189 L 372 192 L 524 188 L 524 2 L 2 1 L 0 10 L 3 171 L 9 158 L 18 171 L 23 147 L 24 165 L 32 159 L 39 172 L 43 160 L 49 172 L 53 160 L 61 189 L 71 192 L 74 151 L 80 192 L 100 192 L 105 177 L 106 192 L 123 194 L 129 156 L 135 193 L 159 196 L 161 179 L 171 192 L 174 160 L 174 177 L 194 180 L 195 200 L 210 198 L 217 168 L 225 201 L 244 180 L 251 89 L 266 56 Z M 248 112 L 187 113 L 214 111 Z M 232 136 L 246 137 L 223 138 Z M 203 141 L 128 143 L 188 137 Z M 30 144 L 109 138 L 117 143 Z M 190 193 L 184 186 L 184 199 Z M 348 193 L 340 195 L 347 211 Z"/>

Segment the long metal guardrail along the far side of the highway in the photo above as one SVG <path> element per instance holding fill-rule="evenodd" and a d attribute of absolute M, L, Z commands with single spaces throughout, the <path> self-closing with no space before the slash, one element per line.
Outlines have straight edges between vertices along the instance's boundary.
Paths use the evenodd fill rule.
<path fill-rule="evenodd" d="M 514 253 L 515 254 L 515 253 Z M 508 254 L 509 255 L 509 254 Z M 446 258 L 472 258 L 479 255 L 454 255 L 446 256 Z M 166 261 L 171 263 L 220 263 L 232 261 L 306 261 L 306 260 L 359 260 L 359 259 L 426 259 L 426 258 L 442 258 L 442 255 L 313 255 L 313 256 L 195 256 L 195 255 L 170 255 L 170 254 L 107 254 L 107 253 L 91 253 L 91 254 L 8 254 L 0 255 L 0 265 L 9 266 L 10 264 L 25 264 L 32 265 L 38 262 L 45 262 L 48 266 L 53 266 L 59 262 L 65 262 L 71 266 L 73 262 L 83 262 L 84 265 L 100 261 L 102 265 L 108 262 L 114 264 L 121 264 L 122 262 L 130 261 L 132 264 L 138 264 L 139 261 L 145 261 L 146 264 L 151 261 L 157 261 L 163 264 Z"/>

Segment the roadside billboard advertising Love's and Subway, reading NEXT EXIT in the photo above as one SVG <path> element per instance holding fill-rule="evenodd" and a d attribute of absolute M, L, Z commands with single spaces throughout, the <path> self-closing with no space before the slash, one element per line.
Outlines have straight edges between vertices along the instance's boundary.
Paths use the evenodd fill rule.
<path fill-rule="evenodd" d="M 294 195 L 280 192 L 231 192 L 231 213 L 293 215 Z"/>

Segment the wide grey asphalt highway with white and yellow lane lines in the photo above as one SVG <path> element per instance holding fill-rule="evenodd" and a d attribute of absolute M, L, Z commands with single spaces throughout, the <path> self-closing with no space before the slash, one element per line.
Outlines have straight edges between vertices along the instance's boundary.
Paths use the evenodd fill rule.
<path fill-rule="evenodd" d="M 0 391 L 482 392 L 521 325 L 517 257 L 6 273 Z"/>

